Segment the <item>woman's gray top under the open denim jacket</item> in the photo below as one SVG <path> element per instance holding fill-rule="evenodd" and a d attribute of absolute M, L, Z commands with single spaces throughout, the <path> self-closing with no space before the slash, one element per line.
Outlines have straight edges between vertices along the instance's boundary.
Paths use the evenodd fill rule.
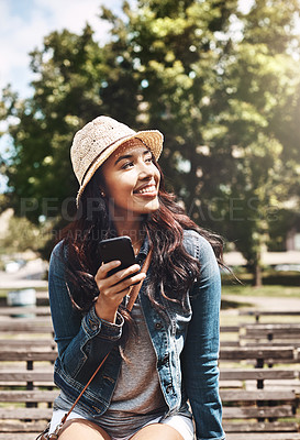
<path fill-rule="evenodd" d="M 156 354 L 138 298 L 132 316 L 137 324 L 137 336 L 130 338 L 126 343 L 126 361 L 122 361 L 111 405 L 97 421 L 113 437 L 130 436 L 167 411 L 156 370 Z M 62 392 L 55 408 L 68 410 L 70 406 L 71 403 Z"/>

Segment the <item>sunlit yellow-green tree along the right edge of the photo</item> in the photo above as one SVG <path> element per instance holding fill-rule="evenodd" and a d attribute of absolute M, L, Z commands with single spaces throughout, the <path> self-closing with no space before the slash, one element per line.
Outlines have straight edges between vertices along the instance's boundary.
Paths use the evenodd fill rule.
<path fill-rule="evenodd" d="M 298 1 L 256 0 L 248 14 L 240 14 L 243 37 L 232 42 L 223 59 L 216 96 L 226 102 L 219 113 L 224 129 L 219 142 L 234 165 L 229 184 L 223 182 L 224 201 L 231 208 L 236 204 L 225 216 L 225 231 L 246 257 L 256 285 L 277 210 L 299 197 L 300 52 L 293 26 L 299 10 Z"/>

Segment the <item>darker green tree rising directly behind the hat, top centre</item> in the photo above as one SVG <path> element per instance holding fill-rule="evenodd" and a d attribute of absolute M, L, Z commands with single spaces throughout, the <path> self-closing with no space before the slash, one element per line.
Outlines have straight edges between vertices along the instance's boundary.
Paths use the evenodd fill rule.
<path fill-rule="evenodd" d="M 202 130 L 211 118 L 208 101 L 218 87 L 219 58 L 226 47 L 218 34 L 227 32 L 236 3 L 141 0 L 135 10 L 125 4 L 126 21 L 104 14 L 115 23 L 111 56 L 126 47 L 124 56 L 140 84 L 140 128 L 164 132 L 162 163 L 187 206 L 202 186 L 198 175 Z"/>

